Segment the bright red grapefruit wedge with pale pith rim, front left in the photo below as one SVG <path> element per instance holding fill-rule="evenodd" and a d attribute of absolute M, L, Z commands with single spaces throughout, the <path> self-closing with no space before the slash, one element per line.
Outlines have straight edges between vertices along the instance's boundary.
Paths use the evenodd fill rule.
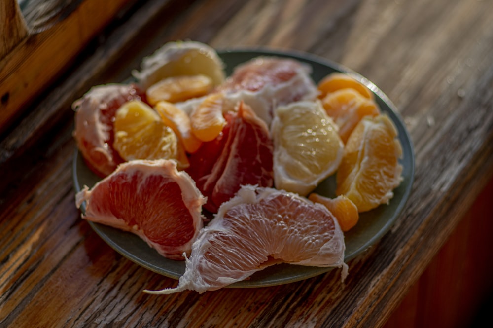
<path fill-rule="evenodd" d="M 120 164 L 91 189 L 75 196 L 85 202 L 83 219 L 130 231 L 156 251 L 183 260 L 203 226 L 205 199 L 171 160 L 133 160 Z"/>

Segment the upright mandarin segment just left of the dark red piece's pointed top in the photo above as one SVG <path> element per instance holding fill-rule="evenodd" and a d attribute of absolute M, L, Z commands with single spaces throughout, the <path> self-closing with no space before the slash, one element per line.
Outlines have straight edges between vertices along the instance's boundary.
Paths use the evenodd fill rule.
<path fill-rule="evenodd" d="M 225 99 L 221 93 L 207 96 L 190 114 L 192 133 L 201 141 L 212 141 L 222 131 L 226 120 L 222 114 Z"/>

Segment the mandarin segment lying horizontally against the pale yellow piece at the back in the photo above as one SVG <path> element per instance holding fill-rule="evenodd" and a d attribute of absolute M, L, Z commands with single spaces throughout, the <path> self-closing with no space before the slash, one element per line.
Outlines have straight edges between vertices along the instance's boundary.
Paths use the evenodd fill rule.
<path fill-rule="evenodd" d="M 170 103 L 202 97 L 212 90 L 212 79 L 206 75 L 179 75 L 167 77 L 151 85 L 146 91 L 147 102 L 156 105 L 159 101 Z"/>

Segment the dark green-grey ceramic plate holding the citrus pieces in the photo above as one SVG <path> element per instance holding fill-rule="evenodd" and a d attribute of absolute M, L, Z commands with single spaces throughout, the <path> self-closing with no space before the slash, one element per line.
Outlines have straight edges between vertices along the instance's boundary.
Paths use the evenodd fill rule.
<path fill-rule="evenodd" d="M 294 58 L 307 63 L 312 67 L 312 77 L 315 82 L 318 82 L 329 73 L 344 72 L 350 74 L 373 91 L 378 105 L 382 111 L 389 115 L 390 119 L 397 127 L 399 134 L 398 138 L 402 144 L 403 150 L 403 158 L 401 160 L 401 164 L 403 165 L 403 181 L 399 187 L 394 189 L 394 197 L 390 200 L 388 205 L 381 205 L 375 210 L 361 213 L 358 224 L 345 234 L 345 260 L 349 261 L 376 243 L 399 217 L 399 214 L 409 198 L 414 178 L 414 152 L 411 139 L 402 119 L 387 96 L 361 75 L 352 72 L 341 65 L 320 59 L 313 55 L 268 49 L 226 50 L 218 51 L 218 53 L 226 64 L 226 73 L 228 75 L 235 66 L 246 62 L 251 58 L 261 55 L 273 55 Z M 100 180 L 98 176 L 93 174 L 84 164 L 82 156 L 77 150 L 75 151 L 73 159 L 73 179 L 76 191 L 79 191 L 84 185 L 92 187 Z M 334 197 L 334 191 L 335 179 L 333 176 L 320 183 L 316 189 L 317 193 L 328 197 Z M 84 208 L 82 208 L 82 210 L 84 210 Z M 185 271 L 184 261 L 174 261 L 162 257 L 156 251 L 149 248 L 149 246 L 136 235 L 93 222 L 89 222 L 89 224 L 114 250 L 151 271 L 174 279 L 178 279 Z M 256 272 L 249 280 L 237 282 L 230 285 L 230 287 L 246 288 L 274 286 L 311 278 L 327 272 L 330 269 L 331 268 L 278 264 Z"/>

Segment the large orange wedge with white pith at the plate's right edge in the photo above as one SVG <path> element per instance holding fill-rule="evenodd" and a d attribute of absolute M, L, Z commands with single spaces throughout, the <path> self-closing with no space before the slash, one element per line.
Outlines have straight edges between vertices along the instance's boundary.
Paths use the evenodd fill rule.
<path fill-rule="evenodd" d="M 402 181 L 402 146 L 387 114 L 364 117 L 354 128 L 337 172 L 337 195 L 365 212 L 387 204 Z"/>

